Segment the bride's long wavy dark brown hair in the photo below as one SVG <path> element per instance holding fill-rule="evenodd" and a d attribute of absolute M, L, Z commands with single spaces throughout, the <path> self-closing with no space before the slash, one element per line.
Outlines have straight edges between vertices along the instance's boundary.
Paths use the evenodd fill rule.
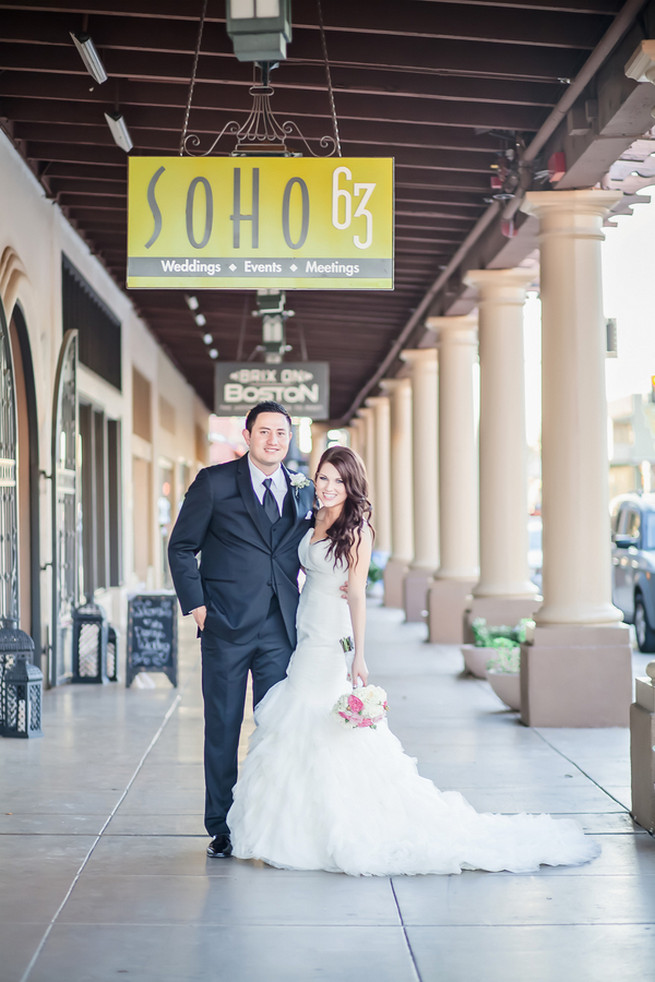
<path fill-rule="evenodd" d="M 371 525 L 372 507 L 368 500 L 368 481 L 364 461 L 350 447 L 328 447 L 318 462 L 316 476 L 324 464 L 332 464 L 346 489 L 346 500 L 343 510 L 335 522 L 325 533 L 330 540 L 327 555 L 334 557 L 334 565 L 345 559 L 346 564 L 355 547 L 359 551 L 362 541 L 362 529 L 368 525 L 373 535 L 375 529 Z M 316 477 L 314 478 L 316 483 Z"/>

